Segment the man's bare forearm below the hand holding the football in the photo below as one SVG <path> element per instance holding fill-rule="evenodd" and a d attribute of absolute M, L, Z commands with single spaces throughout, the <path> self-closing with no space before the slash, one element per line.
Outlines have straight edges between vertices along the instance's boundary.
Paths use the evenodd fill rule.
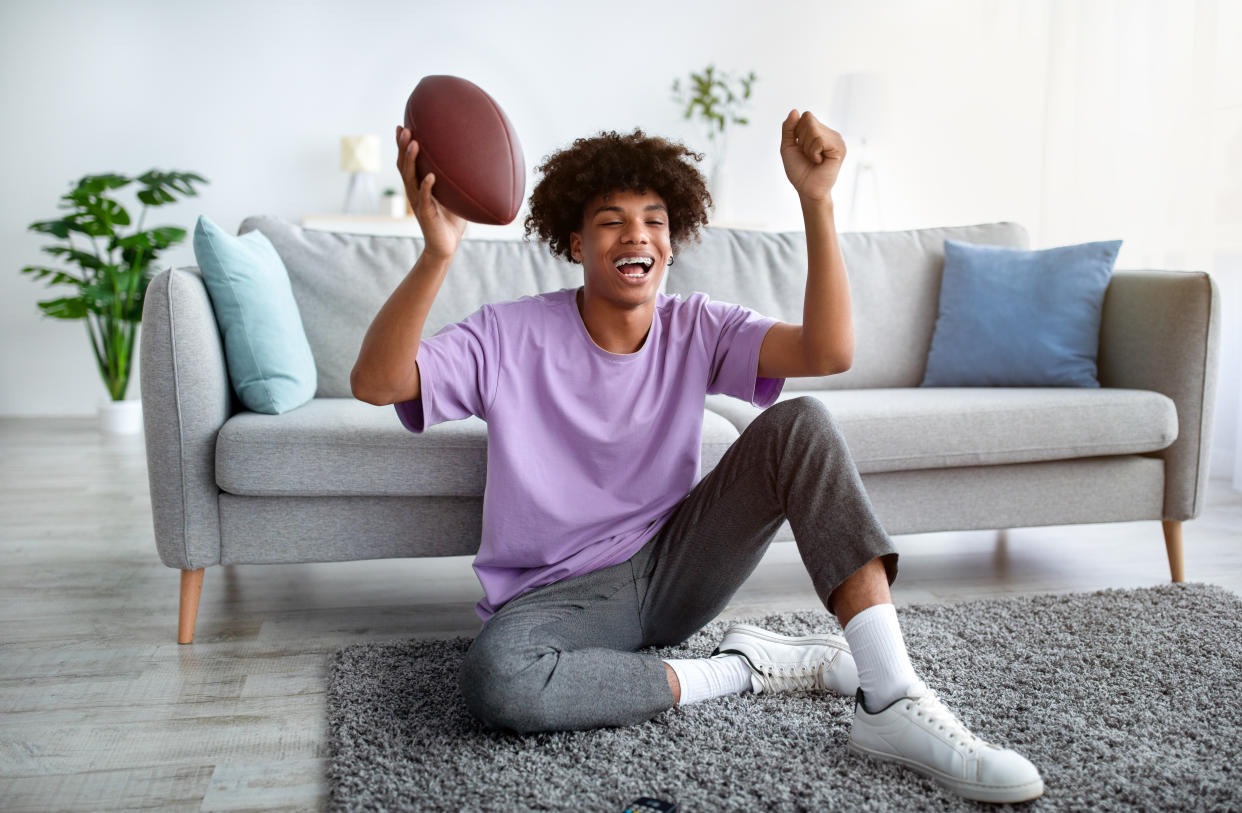
<path fill-rule="evenodd" d="M 452 257 L 419 257 L 414 268 L 389 297 L 363 338 L 349 376 L 354 397 L 389 402 L 414 380 L 422 328 L 440 293 Z"/>

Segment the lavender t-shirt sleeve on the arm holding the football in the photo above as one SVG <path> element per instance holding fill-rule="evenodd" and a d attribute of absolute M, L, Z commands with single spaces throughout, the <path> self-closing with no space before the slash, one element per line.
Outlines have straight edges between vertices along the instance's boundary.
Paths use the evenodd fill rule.
<path fill-rule="evenodd" d="M 501 339 L 496 312 L 483 305 L 419 344 L 421 393 L 394 405 L 411 432 L 469 416 L 487 420 L 496 395 Z"/>

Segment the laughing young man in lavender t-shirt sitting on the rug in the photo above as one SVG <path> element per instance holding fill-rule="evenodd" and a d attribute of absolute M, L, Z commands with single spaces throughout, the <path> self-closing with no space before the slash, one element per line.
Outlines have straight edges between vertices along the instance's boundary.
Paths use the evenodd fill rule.
<path fill-rule="evenodd" d="M 1035 798 L 1035 766 L 974 736 L 914 673 L 889 593 L 897 551 L 832 416 L 810 397 L 776 403 L 785 379 L 847 370 L 854 343 L 831 196 L 845 143 L 797 110 L 781 130 L 806 221 L 801 325 L 660 293 L 710 196 L 688 160 L 700 156 L 635 130 L 578 139 L 538 168 L 527 235 L 581 263 L 582 287 L 488 304 L 421 340 L 466 223 L 435 200 L 433 175 L 415 180 L 419 145 L 397 128 L 425 247 L 351 386 L 412 432 L 487 421 L 484 626 L 462 695 L 518 732 L 632 725 L 730 693 L 854 695 L 852 748 L 968 798 Z M 703 397 L 718 392 L 769 408 L 696 483 Z M 785 519 L 845 638 L 734 626 L 710 658 L 638 652 L 715 618 Z"/>

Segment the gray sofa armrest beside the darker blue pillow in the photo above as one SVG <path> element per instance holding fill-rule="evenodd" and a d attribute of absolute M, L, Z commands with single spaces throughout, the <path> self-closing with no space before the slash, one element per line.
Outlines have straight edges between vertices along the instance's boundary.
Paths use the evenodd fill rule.
<path fill-rule="evenodd" d="M 1154 390 L 1177 406 L 1177 439 L 1165 460 L 1164 519 L 1199 516 L 1216 403 L 1221 297 L 1202 272 L 1125 271 L 1104 295 L 1099 382 Z"/>

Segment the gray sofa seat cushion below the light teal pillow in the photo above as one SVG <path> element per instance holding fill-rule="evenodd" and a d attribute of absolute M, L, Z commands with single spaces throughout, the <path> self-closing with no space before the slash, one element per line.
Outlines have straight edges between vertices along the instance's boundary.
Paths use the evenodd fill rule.
<path fill-rule="evenodd" d="M 739 437 L 703 413 L 702 470 Z M 392 407 L 314 398 L 279 416 L 238 412 L 216 439 L 216 484 L 247 496 L 482 496 L 487 423 L 476 417 L 407 432 Z"/>

